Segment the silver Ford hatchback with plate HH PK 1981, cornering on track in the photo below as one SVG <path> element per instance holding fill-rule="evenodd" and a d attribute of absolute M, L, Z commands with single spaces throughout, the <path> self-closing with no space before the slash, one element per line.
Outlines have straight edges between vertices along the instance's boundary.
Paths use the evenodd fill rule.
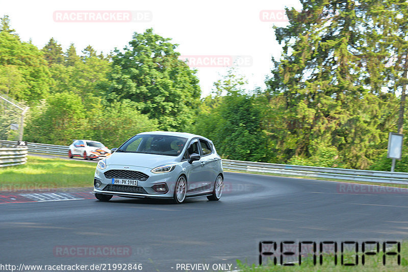
<path fill-rule="evenodd" d="M 207 138 L 184 132 L 143 132 L 100 160 L 95 197 L 186 198 L 219 200 L 223 188 L 221 157 Z"/>

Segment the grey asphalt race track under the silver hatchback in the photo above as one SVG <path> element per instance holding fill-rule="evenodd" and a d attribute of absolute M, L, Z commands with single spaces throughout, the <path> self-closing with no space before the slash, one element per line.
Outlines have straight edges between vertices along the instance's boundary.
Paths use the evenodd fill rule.
<path fill-rule="evenodd" d="M 100 202 L 90 189 L 65 192 L 72 196 L 67 201 L 21 194 L 21 199 L 13 197 L 20 203 L 0 204 L 2 263 L 141 263 L 143 271 L 176 271 L 177 263 L 227 263 L 235 269 L 236 259 L 257 263 L 260 240 L 408 236 L 406 192 L 362 193 L 346 183 L 239 173 L 225 173 L 224 182 L 220 201 L 196 198 L 181 205 L 125 198 Z M 66 248 L 100 246 L 129 254 L 63 254 Z"/>

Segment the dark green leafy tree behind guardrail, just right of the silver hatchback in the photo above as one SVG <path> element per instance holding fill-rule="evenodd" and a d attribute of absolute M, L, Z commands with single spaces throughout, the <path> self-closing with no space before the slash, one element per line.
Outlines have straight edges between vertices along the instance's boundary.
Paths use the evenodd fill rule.
<path fill-rule="evenodd" d="M 261 129 L 260 108 L 254 97 L 245 93 L 245 78 L 235 73 L 230 69 L 214 83 L 215 97 L 203 99 L 204 111 L 197 117 L 195 131 L 211 139 L 224 158 L 268 161 L 270 152 Z"/>

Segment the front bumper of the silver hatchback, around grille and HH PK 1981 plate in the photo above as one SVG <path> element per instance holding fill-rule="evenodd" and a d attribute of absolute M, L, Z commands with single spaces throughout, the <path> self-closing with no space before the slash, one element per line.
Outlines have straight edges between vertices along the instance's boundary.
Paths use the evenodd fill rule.
<path fill-rule="evenodd" d="M 154 174 L 150 172 L 150 168 L 129 166 L 126 171 L 137 171 L 148 176 L 144 181 L 138 180 L 137 186 L 130 186 L 112 184 L 112 179 L 105 176 L 105 172 L 109 170 L 123 170 L 123 166 L 110 165 L 104 170 L 96 168 L 94 182 L 98 181 L 101 185 L 99 187 L 94 186 L 93 193 L 129 198 L 173 198 L 176 177 L 174 178 L 171 172 Z M 158 193 L 153 188 L 153 186 L 162 183 L 165 183 L 168 188 L 166 193 Z"/>

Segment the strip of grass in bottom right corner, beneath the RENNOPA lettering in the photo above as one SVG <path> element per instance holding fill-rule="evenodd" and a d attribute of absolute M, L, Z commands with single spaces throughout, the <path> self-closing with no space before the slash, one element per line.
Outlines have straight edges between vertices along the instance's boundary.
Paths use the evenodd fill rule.
<path fill-rule="evenodd" d="M 245 263 L 237 261 L 238 266 L 242 272 L 271 272 L 271 271 L 408 271 L 408 242 L 401 243 L 401 262 L 400 265 L 397 263 L 396 256 L 386 256 L 386 265 L 382 264 L 382 256 L 384 255 L 381 252 L 382 248 L 380 248 L 380 252 L 375 256 L 366 256 L 365 264 L 362 264 L 362 253 L 359 252 L 359 262 L 356 266 L 344 266 L 341 265 L 341 254 L 337 253 L 337 265 L 335 265 L 334 256 L 325 255 L 323 257 L 323 264 L 319 264 L 319 258 L 317 258 L 317 264 L 313 263 L 313 259 L 302 260 L 301 265 L 298 263 L 294 263 L 294 266 L 282 266 L 282 265 L 274 265 L 267 264 L 261 266 L 248 266 Z M 360 248 L 361 251 L 361 248 Z M 391 249 L 389 250 L 391 251 Z M 393 249 L 396 251 L 396 248 Z M 317 255 L 318 256 L 318 255 Z M 345 253 L 344 255 L 344 263 L 354 263 L 355 256 L 352 253 Z M 278 261 L 279 262 L 279 261 Z"/>

